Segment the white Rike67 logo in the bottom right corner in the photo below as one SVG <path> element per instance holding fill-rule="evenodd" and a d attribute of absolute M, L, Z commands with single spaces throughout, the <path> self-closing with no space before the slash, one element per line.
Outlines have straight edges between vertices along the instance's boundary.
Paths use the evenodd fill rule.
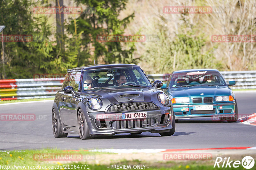
<path fill-rule="evenodd" d="M 223 161 L 223 162 L 222 162 Z M 215 167 L 221 167 L 221 168 L 231 168 L 232 166 L 234 168 L 237 168 L 239 166 L 243 166 L 244 169 L 251 169 L 254 166 L 254 159 L 251 156 L 245 156 L 242 161 L 240 160 L 230 160 L 230 157 L 228 157 L 228 159 L 225 157 L 224 159 L 222 159 L 221 157 L 217 157 L 214 163 L 214 168 Z"/>

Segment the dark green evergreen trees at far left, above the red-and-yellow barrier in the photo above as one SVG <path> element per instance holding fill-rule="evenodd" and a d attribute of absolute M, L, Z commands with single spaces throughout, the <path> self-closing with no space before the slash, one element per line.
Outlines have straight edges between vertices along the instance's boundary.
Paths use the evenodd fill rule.
<path fill-rule="evenodd" d="M 32 78 L 49 68 L 52 44 L 47 18 L 33 17 L 35 3 L 27 0 L 0 0 L 0 21 L 4 35 L 31 35 L 31 42 L 4 42 L 5 63 L 0 65 L 2 78 Z M 2 43 L 0 54 L 2 55 Z M 6 75 L 4 74 L 4 67 Z"/>

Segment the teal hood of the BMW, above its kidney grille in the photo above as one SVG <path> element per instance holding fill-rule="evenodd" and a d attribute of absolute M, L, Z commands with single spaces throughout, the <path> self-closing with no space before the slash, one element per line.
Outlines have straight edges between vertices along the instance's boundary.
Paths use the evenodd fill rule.
<path fill-rule="evenodd" d="M 203 94 L 202 94 L 203 93 Z M 227 86 L 191 86 L 169 89 L 171 98 L 195 96 L 229 96 L 232 90 Z"/>

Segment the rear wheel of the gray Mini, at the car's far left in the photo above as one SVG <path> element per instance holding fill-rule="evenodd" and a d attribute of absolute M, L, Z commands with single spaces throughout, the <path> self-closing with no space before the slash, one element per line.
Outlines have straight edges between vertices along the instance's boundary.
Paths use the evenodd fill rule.
<path fill-rule="evenodd" d="M 60 120 L 55 109 L 52 110 L 52 132 L 55 138 L 66 138 L 68 136 L 68 133 L 61 132 Z"/>

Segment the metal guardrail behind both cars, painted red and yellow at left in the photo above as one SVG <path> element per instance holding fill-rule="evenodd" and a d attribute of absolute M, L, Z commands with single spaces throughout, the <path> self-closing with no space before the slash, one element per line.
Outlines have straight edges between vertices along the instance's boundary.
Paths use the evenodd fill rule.
<path fill-rule="evenodd" d="M 231 89 L 256 89 L 256 71 L 220 72 L 226 81 L 235 80 Z M 168 81 L 170 74 L 148 74 L 150 81 Z M 55 97 L 64 78 L 0 80 L 0 101 Z"/>

